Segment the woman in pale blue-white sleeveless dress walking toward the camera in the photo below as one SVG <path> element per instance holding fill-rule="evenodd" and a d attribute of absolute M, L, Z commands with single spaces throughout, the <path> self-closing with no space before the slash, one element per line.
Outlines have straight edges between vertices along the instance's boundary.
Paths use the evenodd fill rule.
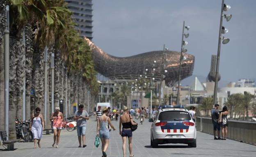
<path fill-rule="evenodd" d="M 44 130 L 43 115 L 40 114 L 41 109 L 36 108 L 36 113 L 31 116 L 30 130 L 32 131 L 34 139 L 34 148 L 41 148 L 40 140 Z"/>

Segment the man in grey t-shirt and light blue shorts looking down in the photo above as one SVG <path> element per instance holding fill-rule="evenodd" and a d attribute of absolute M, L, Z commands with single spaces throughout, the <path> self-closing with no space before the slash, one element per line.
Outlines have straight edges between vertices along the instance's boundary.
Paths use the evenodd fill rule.
<path fill-rule="evenodd" d="M 89 120 L 89 114 L 87 111 L 84 110 L 84 105 L 80 104 L 78 106 L 78 110 L 75 111 L 74 114 L 74 120 L 76 120 L 76 130 L 78 133 L 78 142 L 79 146 L 78 147 L 86 147 L 85 145 L 85 130 L 86 130 L 86 120 Z M 83 146 L 81 145 L 81 136 L 82 136 L 82 142 Z"/>

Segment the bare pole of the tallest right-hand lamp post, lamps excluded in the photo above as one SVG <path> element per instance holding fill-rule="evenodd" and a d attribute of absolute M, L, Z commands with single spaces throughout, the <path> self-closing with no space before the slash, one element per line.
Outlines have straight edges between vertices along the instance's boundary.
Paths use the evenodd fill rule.
<path fill-rule="evenodd" d="M 217 63 L 216 63 L 216 72 L 215 72 L 213 106 L 214 106 L 214 104 L 217 103 L 217 90 L 218 90 L 218 77 L 219 77 L 219 56 L 220 56 L 221 30 L 222 30 L 222 20 L 223 20 L 223 16 L 222 16 L 223 7 L 224 7 L 224 0 L 222 0 L 222 9 L 221 9 L 220 23 L 219 23 L 219 42 L 218 42 Z"/>

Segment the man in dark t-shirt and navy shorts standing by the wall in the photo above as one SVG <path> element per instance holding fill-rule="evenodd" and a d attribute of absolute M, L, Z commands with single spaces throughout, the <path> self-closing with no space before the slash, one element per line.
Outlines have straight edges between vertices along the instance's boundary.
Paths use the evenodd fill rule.
<path fill-rule="evenodd" d="M 220 137 L 219 137 L 220 125 L 218 123 L 218 119 L 219 119 L 219 110 L 218 110 L 218 108 L 219 108 L 219 104 L 215 104 L 214 108 L 211 110 L 214 139 L 220 139 Z M 216 130 L 218 130 L 218 132 L 217 132 L 218 138 L 216 137 Z"/>

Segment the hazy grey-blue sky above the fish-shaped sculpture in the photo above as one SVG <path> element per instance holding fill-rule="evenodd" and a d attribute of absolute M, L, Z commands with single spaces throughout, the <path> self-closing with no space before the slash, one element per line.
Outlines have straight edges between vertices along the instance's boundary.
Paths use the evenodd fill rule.
<path fill-rule="evenodd" d="M 183 20 L 191 28 L 187 53 L 193 75 L 207 76 L 217 55 L 221 0 L 93 0 L 93 42 L 117 57 L 162 50 L 180 51 Z M 256 78 L 256 0 L 225 0 L 232 14 L 223 26 L 230 42 L 221 45 L 222 80 Z"/>

